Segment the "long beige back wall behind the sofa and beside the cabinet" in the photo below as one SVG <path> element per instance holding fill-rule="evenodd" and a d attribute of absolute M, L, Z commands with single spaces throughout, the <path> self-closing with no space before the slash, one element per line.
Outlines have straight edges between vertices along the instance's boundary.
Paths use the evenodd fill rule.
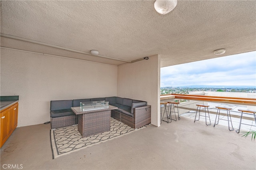
<path fill-rule="evenodd" d="M 118 67 L 1 48 L 1 96 L 19 95 L 18 126 L 50 121 L 50 101 L 117 96 Z"/>

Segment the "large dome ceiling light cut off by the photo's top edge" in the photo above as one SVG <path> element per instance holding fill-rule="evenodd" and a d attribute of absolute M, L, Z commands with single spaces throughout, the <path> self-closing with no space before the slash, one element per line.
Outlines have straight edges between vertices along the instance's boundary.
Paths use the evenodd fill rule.
<path fill-rule="evenodd" d="M 171 12 L 177 5 L 177 0 L 156 0 L 154 7 L 159 14 Z"/>

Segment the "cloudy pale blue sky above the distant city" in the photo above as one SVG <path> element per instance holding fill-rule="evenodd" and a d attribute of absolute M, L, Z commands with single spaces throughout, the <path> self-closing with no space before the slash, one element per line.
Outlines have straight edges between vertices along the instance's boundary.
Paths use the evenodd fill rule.
<path fill-rule="evenodd" d="M 161 68 L 160 87 L 254 86 L 256 51 Z"/>

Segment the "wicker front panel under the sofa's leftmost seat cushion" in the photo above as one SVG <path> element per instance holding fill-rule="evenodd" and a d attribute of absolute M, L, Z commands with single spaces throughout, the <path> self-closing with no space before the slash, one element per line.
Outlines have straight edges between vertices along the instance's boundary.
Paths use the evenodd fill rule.
<path fill-rule="evenodd" d="M 76 125 L 76 115 L 51 118 L 51 128 L 68 127 Z"/>

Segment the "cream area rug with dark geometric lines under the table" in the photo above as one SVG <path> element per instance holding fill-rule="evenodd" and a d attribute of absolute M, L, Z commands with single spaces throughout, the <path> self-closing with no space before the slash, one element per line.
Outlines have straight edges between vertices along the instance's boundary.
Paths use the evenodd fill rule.
<path fill-rule="evenodd" d="M 105 142 L 134 130 L 137 129 L 131 128 L 112 117 L 110 119 L 110 131 L 84 138 L 82 138 L 82 135 L 78 132 L 77 125 L 50 130 L 52 159 L 87 148 L 94 144 Z"/>

